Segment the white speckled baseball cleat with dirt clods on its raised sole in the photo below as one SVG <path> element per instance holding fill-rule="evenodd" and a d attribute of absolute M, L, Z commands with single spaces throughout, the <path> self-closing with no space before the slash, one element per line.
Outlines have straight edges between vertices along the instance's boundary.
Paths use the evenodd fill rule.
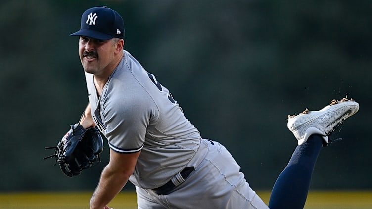
<path fill-rule="evenodd" d="M 288 128 L 298 140 L 298 145 L 307 141 L 310 135 L 323 136 L 324 146 L 329 144 L 331 135 L 345 119 L 359 110 L 359 104 L 346 97 L 340 101 L 333 99 L 331 104 L 318 111 L 305 109 L 299 115 L 288 115 Z"/>

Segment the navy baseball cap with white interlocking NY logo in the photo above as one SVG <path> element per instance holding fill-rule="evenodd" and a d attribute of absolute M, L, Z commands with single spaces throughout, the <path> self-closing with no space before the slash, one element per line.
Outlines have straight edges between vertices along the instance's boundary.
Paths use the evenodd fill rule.
<path fill-rule="evenodd" d="M 118 12 L 106 6 L 89 8 L 82 15 L 80 30 L 70 36 L 124 39 L 124 21 Z"/>

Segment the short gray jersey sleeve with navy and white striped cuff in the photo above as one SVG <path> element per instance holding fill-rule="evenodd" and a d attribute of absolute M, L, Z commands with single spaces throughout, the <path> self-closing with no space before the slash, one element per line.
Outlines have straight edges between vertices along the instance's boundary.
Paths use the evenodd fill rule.
<path fill-rule="evenodd" d="M 119 153 L 138 152 L 143 148 L 147 127 L 153 119 L 152 100 L 130 92 L 115 96 L 103 102 L 109 147 Z"/>

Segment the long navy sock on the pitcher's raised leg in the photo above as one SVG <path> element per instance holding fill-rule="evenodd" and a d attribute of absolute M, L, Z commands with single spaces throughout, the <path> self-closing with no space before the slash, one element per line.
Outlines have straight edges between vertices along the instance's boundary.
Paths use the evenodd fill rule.
<path fill-rule="evenodd" d="M 321 136 L 311 135 L 306 143 L 296 147 L 274 184 L 270 209 L 303 209 L 322 142 Z"/>

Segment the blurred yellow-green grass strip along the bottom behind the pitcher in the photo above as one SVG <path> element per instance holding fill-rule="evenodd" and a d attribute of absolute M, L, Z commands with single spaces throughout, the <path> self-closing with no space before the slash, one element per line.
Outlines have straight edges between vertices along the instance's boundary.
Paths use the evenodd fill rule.
<path fill-rule="evenodd" d="M 257 193 L 268 203 L 270 192 Z M 0 209 L 88 209 L 90 196 L 91 192 L 0 193 Z M 110 207 L 137 209 L 135 192 L 121 192 Z M 305 209 L 372 209 L 372 191 L 311 191 Z"/>

